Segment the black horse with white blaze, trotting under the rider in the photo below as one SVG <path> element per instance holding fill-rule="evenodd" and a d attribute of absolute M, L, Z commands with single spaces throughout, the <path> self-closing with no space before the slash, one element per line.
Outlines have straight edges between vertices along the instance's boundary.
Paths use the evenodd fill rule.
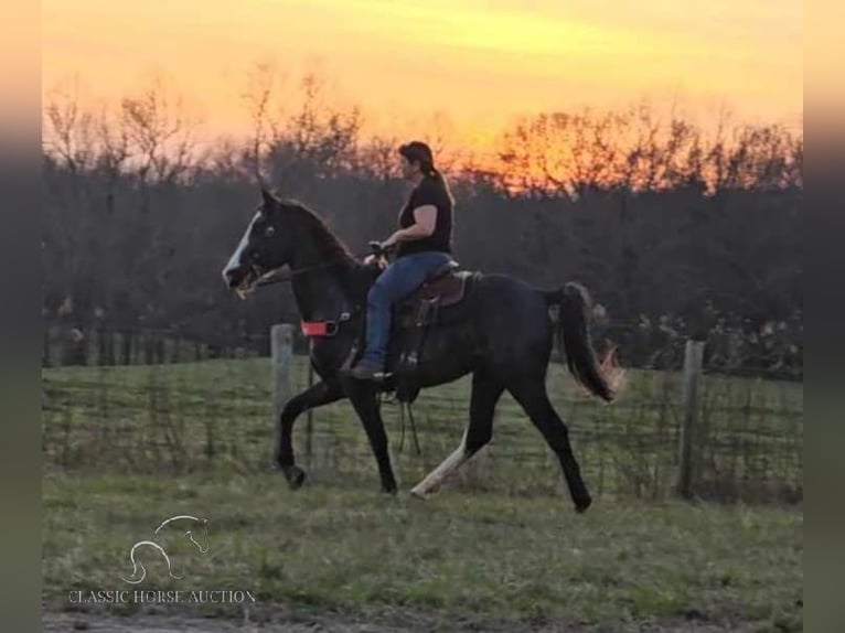
<path fill-rule="evenodd" d="M 378 393 L 385 387 L 341 372 L 359 340 L 367 290 L 379 269 L 360 262 L 302 204 L 279 200 L 264 187 L 261 195 L 255 217 L 223 271 L 227 287 L 245 298 L 263 279 L 287 265 L 303 321 L 336 321 L 341 314 L 349 315 L 336 333 L 313 341 L 311 363 L 321 379 L 291 398 L 281 412 L 278 464 L 288 483 L 299 487 L 304 471 L 293 459 L 293 422 L 308 409 L 346 397 L 375 453 L 382 490 L 395 493 L 396 480 L 378 406 Z M 553 305 L 559 307 L 557 326 L 550 315 Z M 567 427 L 555 412 L 545 387 L 553 337 L 557 334 L 576 380 L 603 400 L 614 398 L 613 375 L 599 363 L 590 342 L 589 308 L 587 291 L 576 282 L 544 291 L 505 275 L 477 278 L 463 299 L 463 316 L 437 325 L 427 335 L 416 376 L 425 388 L 471 373 L 469 425 L 458 449 L 411 494 L 428 496 L 490 441 L 493 411 L 507 389 L 557 454 L 576 511 L 589 507 L 591 498 L 573 454 Z"/>

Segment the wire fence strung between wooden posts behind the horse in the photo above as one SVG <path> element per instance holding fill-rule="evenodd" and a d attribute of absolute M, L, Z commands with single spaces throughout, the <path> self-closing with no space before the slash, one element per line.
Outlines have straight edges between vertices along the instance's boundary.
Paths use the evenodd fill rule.
<path fill-rule="evenodd" d="M 670 337 L 651 347 L 657 362 L 629 369 L 621 397 L 609 406 L 586 396 L 560 364 L 549 367 L 553 404 L 593 493 L 648 500 L 673 494 L 684 417 L 683 342 Z M 307 341 L 298 336 L 293 351 L 296 394 L 312 375 Z M 207 341 L 152 330 L 49 330 L 42 362 L 45 468 L 268 471 L 277 437 L 268 356 L 265 335 Z M 784 375 L 782 365 L 740 372 L 705 355 L 695 401 L 697 496 L 802 501 L 803 374 Z M 398 450 L 399 408 L 383 405 L 394 465 L 407 486 L 457 447 L 469 417 L 469 385 L 462 378 L 422 391 L 414 405 L 419 455 L 408 439 Z M 346 401 L 303 415 L 295 449 L 311 479 L 377 481 L 365 433 Z M 449 485 L 514 495 L 563 490 L 556 457 L 509 395 L 496 409 L 493 441 Z"/>

